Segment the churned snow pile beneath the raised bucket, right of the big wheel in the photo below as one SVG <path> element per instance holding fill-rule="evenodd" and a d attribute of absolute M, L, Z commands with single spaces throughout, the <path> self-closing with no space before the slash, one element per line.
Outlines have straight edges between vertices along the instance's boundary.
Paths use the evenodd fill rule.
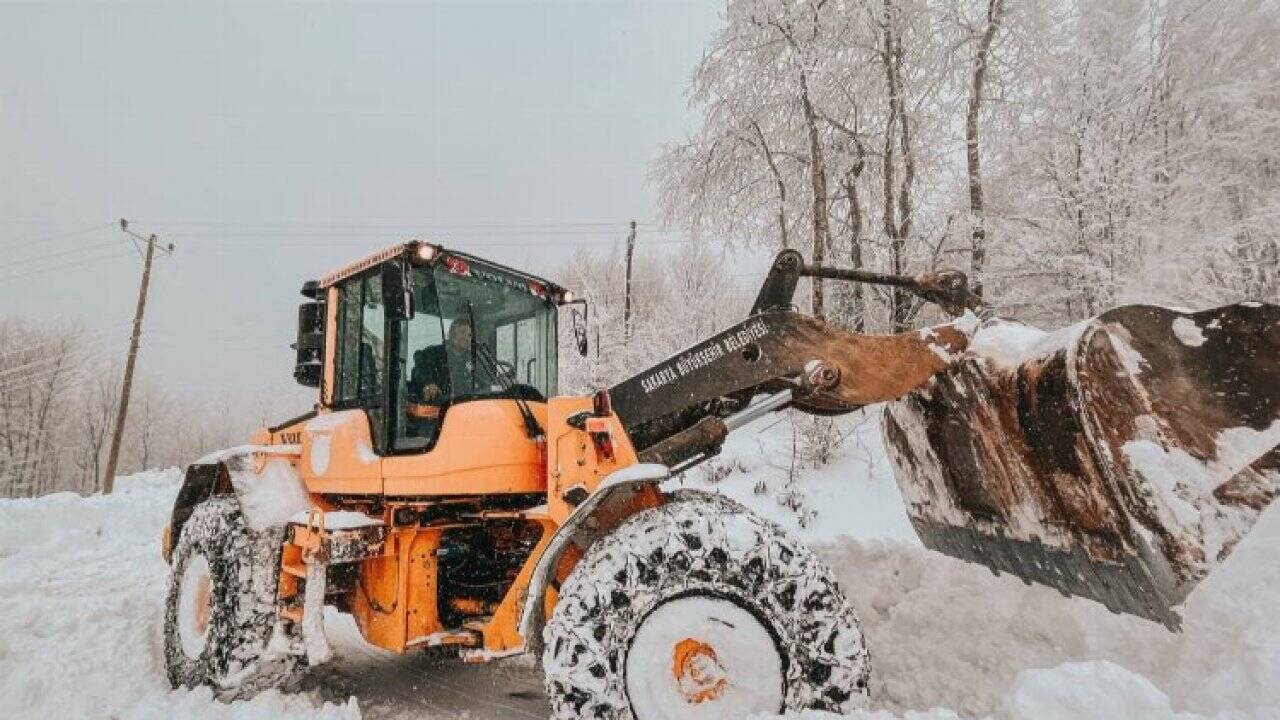
<path fill-rule="evenodd" d="M 1277 544 L 1272 507 L 1192 593 L 1180 634 L 899 543 L 823 553 L 861 616 L 879 707 L 1261 720 L 1280 717 Z"/>

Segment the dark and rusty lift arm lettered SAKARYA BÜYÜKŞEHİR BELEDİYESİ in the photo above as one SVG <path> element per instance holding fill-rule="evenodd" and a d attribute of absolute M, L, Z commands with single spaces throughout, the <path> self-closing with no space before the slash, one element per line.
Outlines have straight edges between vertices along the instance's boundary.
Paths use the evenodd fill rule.
<path fill-rule="evenodd" d="M 952 311 L 974 305 L 959 272 L 922 277 L 805 265 L 794 251 L 773 261 L 748 319 L 609 388 L 641 459 L 677 465 L 714 455 L 723 420 L 762 393 L 790 391 L 777 409 L 833 415 L 899 398 L 946 369 L 968 346 L 964 320 L 892 336 L 847 332 L 791 307 L 800 277 L 904 287 Z"/>

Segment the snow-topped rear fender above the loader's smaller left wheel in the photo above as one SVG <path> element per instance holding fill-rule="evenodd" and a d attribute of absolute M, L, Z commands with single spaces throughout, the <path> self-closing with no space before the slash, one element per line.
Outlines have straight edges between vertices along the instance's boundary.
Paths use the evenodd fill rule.
<path fill-rule="evenodd" d="M 253 530 L 310 510 L 306 487 L 291 462 L 301 452 L 298 445 L 247 445 L 212 452 L 188 465 L 160 542 L 165 562 L 196 506 L 210 497 L 234 495 Z"/>

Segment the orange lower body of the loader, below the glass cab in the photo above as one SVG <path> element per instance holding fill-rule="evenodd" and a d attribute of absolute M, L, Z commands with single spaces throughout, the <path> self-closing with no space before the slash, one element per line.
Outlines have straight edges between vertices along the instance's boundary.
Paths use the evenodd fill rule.
<path fill-rule="evenodd" d="M 360 561 L 355 577 L 347 578 L 349 587 L 339 585 L 340 594 L 329 598 L 355 616 L 366 641 L 393 652 L 462 646 L 475 648 L 468 659 L 486 660 L 524 648 L 517 624 L 530 574 L 573 511 L 566 493 L 581 487 L 589 495 L 609 473 L 636 462 L 617 416 L 604 420 L 612 439 L 607 456 L 585 432 L 570 427 L 571 414 L 590 407 L 590 397 L 531 404 L 547 428 L 545 445 L 525 437 L 511 400 L 451 409 L 436 445 L 415 455 L 375 455 L 361 410 L 323 411 L 274 432 L 260 430 L 253 439 L 259 446 L 297 446 L 291 462 L 316 509 L 358 511 L 388 528 L 381 552 Z M 538 496 L 539 502 L 494 507 L 500 496 Z M 659 502 L 653 492 L 641 505 Z M 425 520 L 433 514 L 439 520 Z M 497 552 L 521 555 L 518 569 L 512 568 L 500 593 L 444 597 L 442 542 L 449 533 L 472 532 L 490 538 Z M 282 557 L 282 607 L 298 592 L 301 573 L 291 565 L 301 564 L 306 542 L 297 536 Z M 570 562 L 557 575 L 571 569 Z M 548 612 L 554 600 L 552 591 Z M 449 616 L 465 620 L 453 625 Z"/>

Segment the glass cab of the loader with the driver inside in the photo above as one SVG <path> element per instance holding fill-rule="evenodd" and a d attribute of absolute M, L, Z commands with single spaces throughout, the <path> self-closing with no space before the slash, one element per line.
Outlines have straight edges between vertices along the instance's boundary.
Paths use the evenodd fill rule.
<path fill-rule="evenodd" d="M 328 306 L 321 405 L 364 410 L 379 455 L 430 451 L 451 407 L 557 392 L 567 293 L 540 278 L 415 242 L 332 273 L 316 296 Z M 305 345 L 300 332 L 296 375 Z"/>

